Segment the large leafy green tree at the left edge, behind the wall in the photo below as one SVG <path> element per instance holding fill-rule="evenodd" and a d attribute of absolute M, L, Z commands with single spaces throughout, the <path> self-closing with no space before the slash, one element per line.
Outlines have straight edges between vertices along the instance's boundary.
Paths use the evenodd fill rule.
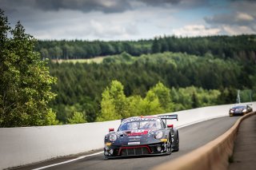
<path fill-rule="evenodd" d="M 56 79 L 20 22 L 11 30 L 0 10 L 0 24 L 0 127 L 46 125 Z"/>

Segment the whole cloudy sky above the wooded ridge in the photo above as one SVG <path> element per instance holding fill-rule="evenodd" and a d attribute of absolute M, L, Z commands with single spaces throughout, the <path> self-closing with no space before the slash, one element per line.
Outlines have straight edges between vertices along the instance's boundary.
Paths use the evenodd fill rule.
<path fill-rule="evenodd" d="M 256 0 L 0 0 L 40 40 L 256 34 Z"/>

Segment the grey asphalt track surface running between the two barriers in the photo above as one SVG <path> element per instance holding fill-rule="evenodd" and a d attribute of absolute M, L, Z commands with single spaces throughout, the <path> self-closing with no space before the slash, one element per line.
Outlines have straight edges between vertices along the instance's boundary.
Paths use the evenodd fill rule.
<path fill-rule="evenodd" d="M 76 160 L 67 164 L 60 164 L 45 169 L 64 169 L 64 170 L 96 170 L 96 169 L 150 169 L 158 164 L 162 164 L 166 161 L 174 160 L 179 156 L 182 156 L 195 148 L 207 144 L 211 140 L 216 139 L 218 136 L 226 132 L 234 122 L 238 120 L 239 117 L 222 117 L 216 118 L 210 121 L 203 121 L 194 125 L 189 125 L 184 128 L 179 128 L 179 138 L 180 138 L 180 150 L 178 152 L 172 152 L 170 156 L 147 156 L 147 157 L 131 157 L 131 158 L 121 158 L 114 160 L 104 160 L 103 153 L 95 156 L 88 156 L 81 160 Z M 103 139 L 102 139 L 103 142 Z M 94 151 L 94 152 L 100 152 Z M 91 152 L 93 153 L 93 152 Z M 90 153 L 86 153 L 90 154 Z M 79 155 L 81 156 L 81 155 Z M 74 159 L 76 156 L 59 158 L 56 160 L 46 161 L 40 164 L 32 164 L 29 166 L 24 166 L 15 169 L 34 169 L 42 168 L 49 164 L 56 164 L 58 162 L 66 161 L 69 159 Z M 184 163 L 186 164 L 186 163 Z"/>

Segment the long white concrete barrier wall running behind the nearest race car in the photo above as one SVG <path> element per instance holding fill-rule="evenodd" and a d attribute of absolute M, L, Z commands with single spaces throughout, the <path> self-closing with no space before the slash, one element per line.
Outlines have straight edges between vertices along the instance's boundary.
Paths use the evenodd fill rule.
<path fill-rule="evenodd" d="M 256 105 L 256 102 L 252 103 Z M 176 127 L 228 116 L 233 105 L 218 105 L 176 112 Z M 255 107 L 254 107 L 255 108 Z M 166 113 L 170 114 L 170 113 Z M 0 169 L 49 160 L 103 148 L 108 128 L 118 128 L 120 120 L 78 125 L 0 128 Z"/>

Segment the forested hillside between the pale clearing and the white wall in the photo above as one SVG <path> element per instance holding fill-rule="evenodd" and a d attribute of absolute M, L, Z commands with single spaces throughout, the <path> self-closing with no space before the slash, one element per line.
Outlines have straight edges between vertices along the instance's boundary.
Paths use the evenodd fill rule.
<path fill-rule="evenodd" d="M 50 74 L 58 78 L 52 87 L 58 96 L 50 105 L 58 121 L 66 124 L 78 113 L 84 122 L 94 122 L 235 103 L 237 89 L 246 92 L 242 101 L 255 100 L 254 90 L 249 90 L 255 89 L 255 50 L 242 51 L 237 57 L 214 56 L 209 51 L 140 56 L 123 52 L 101 63 L 50 62 Z M 111 89 L 119 91 L 114 94 Z M 162 91 L 170 102 L 164 104 L 157 93 Z M 117 97 L 121 101 L 115 101 Z"/>

